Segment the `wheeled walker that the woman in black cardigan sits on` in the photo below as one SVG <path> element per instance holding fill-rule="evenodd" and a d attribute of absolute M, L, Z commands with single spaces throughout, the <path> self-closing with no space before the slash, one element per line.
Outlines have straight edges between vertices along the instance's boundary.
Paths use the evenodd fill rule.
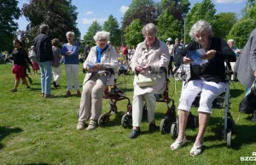
<path fill-rule="evenodd" d="M 223 127 L 223 129 L 219 130 L 219 136 L 223 136 L 224 141 L 226 141 L 227 146 L 231 145 L 231 135 L 232 133 L 234 134 L 235 132 L 235 127 L 236 124 L 230 114 L 230 71 L 229 68 L 226 66 L 225 68 L 226 72 L 226 77 L 225 77 L 225 92 L 224 94 L 220 94 L 217 99 L 215 99 L 212 102 L 212 107 L 217 107 L 217 108 L 222 108 L 223 107 L 223 102 L 224 102 L 224 126 L 222 124 L 222 119 L 220 120 L 220 128 Z M 197 106 L 198 101 L 200 100 L 200 97 L 196 97 L 195 101 L 193 102 L 192 105 Z M 215 105 L 215 106 L 214 106 Z M 188 126 L 192 128 L 196 128 L 197 122 L 195 119 L 195 116 L 189 112 L 189 118 L 188 118 Z M 178 135 L 178 116 L 177 116 L 177 122 L 172 123 L 171 127 L 171 138 L 176 139 Z"/>

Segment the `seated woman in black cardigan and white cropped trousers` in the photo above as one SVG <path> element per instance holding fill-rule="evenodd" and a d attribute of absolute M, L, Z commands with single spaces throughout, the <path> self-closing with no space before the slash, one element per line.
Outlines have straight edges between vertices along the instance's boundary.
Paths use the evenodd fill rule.
<path fill-rule="evenodd" d="M 203 65 L 190 65 L 191 77 L 183 88 L 178 109 L 178 136 L 171 145 L 171 150 L 177 150 L 187 141 L 185 128 L 189 117 L 190 106 L 197 94 L 201 93 L 199 111 L 199 131 L 195 143 L 190 150 L 191 156 L 201 154 L 203 136 L 207 122 L 212 113 L 212 101 L 225 90 L 224 60 L 236 61 L 236 54 L 222 38 L 212 37 L 212 26 L 205 20 L 199 20 L 192 26 L 189 36 L 193 42 L 189 43 L 178 55 L 182 55 L 184 63 L 193 60 L 186 57 L 187 51 L 204 48 L 206 54 L 201 60 L 207 60 Z"/>

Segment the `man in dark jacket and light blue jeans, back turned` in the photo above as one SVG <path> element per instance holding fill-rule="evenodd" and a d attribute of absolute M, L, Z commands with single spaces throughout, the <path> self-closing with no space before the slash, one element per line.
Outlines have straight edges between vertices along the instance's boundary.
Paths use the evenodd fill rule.
<path fill-rule="evenodd" d="M 33 43 L 41 70 L 42 96 L 44 98 L 55 98 L 53 94 L 50 94 L 50 84 L 52 79 L 51 63 L 54 60 L 54 56 L 48 33 L 49 26 L 41 25 L 40 34 L 34 38 Z"/>

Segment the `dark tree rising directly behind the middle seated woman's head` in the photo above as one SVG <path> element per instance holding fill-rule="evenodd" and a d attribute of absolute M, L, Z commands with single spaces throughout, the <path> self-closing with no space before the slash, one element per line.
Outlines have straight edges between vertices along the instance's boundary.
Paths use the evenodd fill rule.
<path fill-rule="evenodd" d="M 132 0 L 122 22 L 123 31 L 136 19 L 140 20 L 143 26 L 148 23 L 156 25 L 157 11 L 153 0 Z"/>

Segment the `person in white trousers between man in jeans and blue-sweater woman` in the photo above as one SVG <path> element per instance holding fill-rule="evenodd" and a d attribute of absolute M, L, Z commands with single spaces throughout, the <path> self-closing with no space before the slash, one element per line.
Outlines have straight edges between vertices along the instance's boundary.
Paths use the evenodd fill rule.
<path fill-rule="evenodd" d="M 59 85 L 59 79 L 61 77 L 61 48 L 58 47 L 60 41 L 57 38 L 54 38 L 51 42 L 52 52 L 54 54 L 54 62 L 51 65 L 52 74 L 54 77 L 53 85 L 55 88 L 61 87 Z"/>

